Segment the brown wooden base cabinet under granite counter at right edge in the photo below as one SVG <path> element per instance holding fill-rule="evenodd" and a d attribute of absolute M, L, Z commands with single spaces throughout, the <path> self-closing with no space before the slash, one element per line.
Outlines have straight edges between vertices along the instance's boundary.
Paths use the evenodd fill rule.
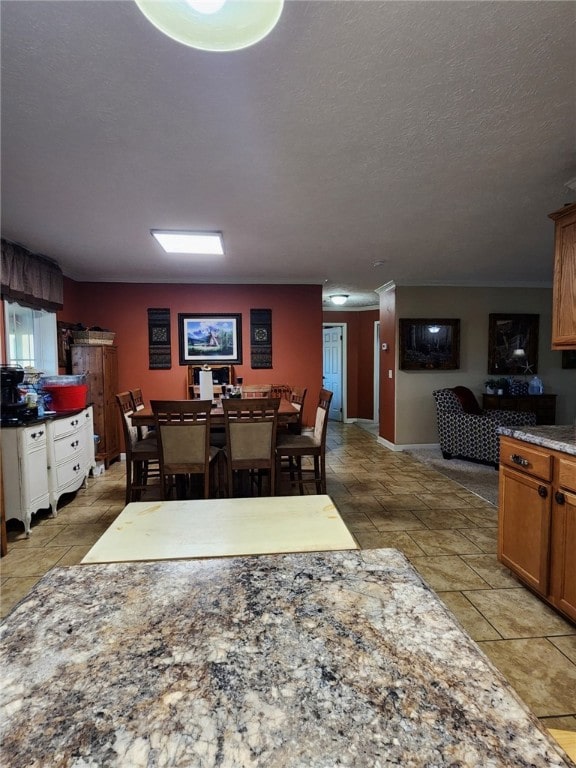
<path fill-rule="evenodd" d="M 576 621 L 576 458 L 500 438 L 498 559 Z"/>

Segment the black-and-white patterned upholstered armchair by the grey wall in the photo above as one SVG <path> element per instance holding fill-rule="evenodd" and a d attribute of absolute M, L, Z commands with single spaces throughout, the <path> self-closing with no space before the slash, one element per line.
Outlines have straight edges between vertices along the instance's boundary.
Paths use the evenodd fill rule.
<path fill-rule="evenodd" d="M 466 459 L 498 467 L 499 426 L 536 424 L 527 411 L 483 410 L 468 387 L 437 389 L 433 393 L 440 449 L 445 459 Z"/>

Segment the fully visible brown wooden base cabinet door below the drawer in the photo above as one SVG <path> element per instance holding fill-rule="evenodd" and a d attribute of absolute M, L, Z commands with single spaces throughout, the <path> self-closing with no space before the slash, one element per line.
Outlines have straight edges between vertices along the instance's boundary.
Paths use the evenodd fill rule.
<path fill-rule="evenodd" d="M 548 594 L 551 484 L 500 467 L 498 559 L 543 596 Z"/>

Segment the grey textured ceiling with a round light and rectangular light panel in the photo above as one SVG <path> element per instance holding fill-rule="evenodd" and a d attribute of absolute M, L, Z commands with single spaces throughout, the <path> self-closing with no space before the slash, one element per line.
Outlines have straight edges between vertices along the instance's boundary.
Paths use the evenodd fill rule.
<path fill-rule="evenodd" d="M 288 0 L 236 53 L 130 0 L 2 2 L 2 235 L 78 280 L 547 285 L 576 4 Z M 163 254 L 151 228 L 222 230 Z M 380 262 L 379 266 L 374 266 Z"/>

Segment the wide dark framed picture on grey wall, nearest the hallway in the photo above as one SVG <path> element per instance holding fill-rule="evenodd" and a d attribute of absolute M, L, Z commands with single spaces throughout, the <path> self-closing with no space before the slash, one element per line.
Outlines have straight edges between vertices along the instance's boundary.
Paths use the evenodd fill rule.
<path fill-rule="evenodd" d="M 400 318 L 400 369 L 449 371 L 460 368 L 458 318 Z"/>

